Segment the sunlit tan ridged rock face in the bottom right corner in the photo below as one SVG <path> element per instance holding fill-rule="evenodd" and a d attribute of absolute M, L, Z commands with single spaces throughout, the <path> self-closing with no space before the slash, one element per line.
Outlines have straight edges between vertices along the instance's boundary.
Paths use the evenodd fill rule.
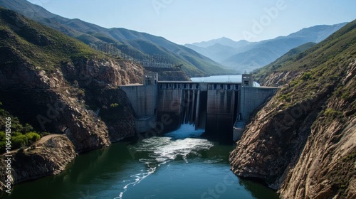
<path fill-rule="evenodd" d="M 356 198 L 356 61 L 341 95 L 333 95 L 313 124 L 298 162 L 281 185 L 281 198 Z M 347 93 L 348 92 L 348 93 Z"/>

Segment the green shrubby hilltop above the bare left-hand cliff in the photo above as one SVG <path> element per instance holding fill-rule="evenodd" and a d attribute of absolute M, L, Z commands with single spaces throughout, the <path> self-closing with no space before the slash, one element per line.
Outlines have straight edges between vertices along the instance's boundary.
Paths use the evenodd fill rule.
<path fill-rule="evenodd" d="M 29 63 L 31 68 L 48 71 L 66 60 L 104 56 L 74 38 L 2 8 L 0 37 L 0 67 Z"/>

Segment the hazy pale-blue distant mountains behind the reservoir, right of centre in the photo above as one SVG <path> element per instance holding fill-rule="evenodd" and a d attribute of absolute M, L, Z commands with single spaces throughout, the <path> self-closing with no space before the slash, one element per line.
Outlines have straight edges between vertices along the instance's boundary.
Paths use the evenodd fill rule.
<path fill-rule="evenodd" d="M 188 48 L 205 55 L 238 72 L 252 71 L 261 68 L 273 60 L 281 57 L 288 50 L 303 45 L 304 43 L 319 43 L 330 34 L 345 26 L 340 23 L 333 26 L 313 26 L 281 36 L 271 40 L 260 42 L 232 41 L 229 38 L 220 38 L 212 41 L 186 44 Z"/>

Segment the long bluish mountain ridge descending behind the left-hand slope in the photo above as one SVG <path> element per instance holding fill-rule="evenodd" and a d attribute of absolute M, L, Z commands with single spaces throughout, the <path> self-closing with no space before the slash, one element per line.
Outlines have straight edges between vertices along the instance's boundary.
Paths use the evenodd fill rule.
<path fill-rule="evenodd" d="M 69 19 L 51 14 L 41 6 L 26 0 L 1 0 L 0 6 L 17 11 L 35 21 L 50 26 L 68 36 L 78 38 L 105 53 L 122 55 L 128 59 L 183 65 L 189 76 L 219 75 L 233 72 L 183 45 L 148 33 L 125 28 L 103 28 L 80 19 Z"/>

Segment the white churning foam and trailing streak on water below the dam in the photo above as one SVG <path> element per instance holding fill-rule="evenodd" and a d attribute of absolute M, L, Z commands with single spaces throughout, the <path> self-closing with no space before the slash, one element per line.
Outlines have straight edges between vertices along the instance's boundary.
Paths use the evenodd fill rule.
<path fill-rule="evenodd" d="M 147 158 L 141 158 L 139 160 L 145 163 L 147 169 L 130 176 L 130 180 L 126 181 L 128 183 L 123 187 L 117 199 L 122 198 L 130 186 L 137 185 L 147 178 L 147 176 L 155 173 L 157 167 L 177 157 L 181 157 L 184 161 L 188 162 L 188 155 L 194 154 L 199 156 L 198 151 L 210 149 L 213 144 L 207 139 L 199 138 L 203 133 L 204 130 L 195 130 L 194 125 L 182 124 L 179 129 L 169 132 L 164 136 L 152 136 L 140 141 L 137 146 L 135 146 L 135 151 L 148 152 Z"/>

